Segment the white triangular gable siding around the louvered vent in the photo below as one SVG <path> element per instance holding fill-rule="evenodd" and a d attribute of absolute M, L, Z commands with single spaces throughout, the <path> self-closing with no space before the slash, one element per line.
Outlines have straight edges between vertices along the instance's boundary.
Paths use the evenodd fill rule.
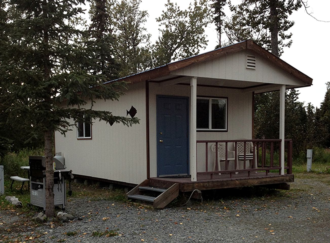
<path fill-rule="evenodd" d="M 255 70 L 246 68 L 247 54 L 256 55 Z M 228 54 L 214 60 L 191 65 L 173 71 L 172 74 L 272 84 L 305 85 L 298 78 L 281 70 L 267 61 L 267 59 L 258 56 L 250 50 Z"/>

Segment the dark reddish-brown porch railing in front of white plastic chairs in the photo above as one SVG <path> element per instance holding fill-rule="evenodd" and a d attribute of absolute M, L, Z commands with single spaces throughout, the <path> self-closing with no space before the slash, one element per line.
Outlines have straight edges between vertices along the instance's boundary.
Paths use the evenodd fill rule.
<path fill-rule="evenodd" d="M 244 153 L 241 154 L 241 159 L 238 159 L 237 145 L 238 142 L 244 143 Z M 247 159 L 247 154 L 250 153 L 246 151 L 246 144 L 253 144 L 253 159 Z M 203 145 L 204 144 L 204 149 Z M 222 161 L 225 163 L 225 168 L 219 170 L 217 161 L 218 153 L 211 150 L 211 146 L 215 144 L 215 151 L 218 151 L 218 146 L 221 144 L 225 148 L 225 158 Z M 233 174 L 239 174 L 241 172 L 247 172 L 248 176 L 251 176 L 251 172 L 261 172 L 264 171 L 266 175 L 272 171 L 278 171 L 281 174 L 281 140 L 280 139 L 248 139 L 248 140 L 199 140 L 197 141 L 197 168 L 201 163 L 205 165 L 205 171 L 197 172 L 197 179 L 199 175 L 210 175 L 210 179 L 213 179 L 215 174 L 229 174 L 232 178 Z M 229 168 L 228 160 L 228 148 L 233 147 L 235 150 L 235 163 L 234 169 Z M 286 174 L 292 174 L 292 140 L 285 139 L 285 152 L 284 152 L 284 169 L 286 169 Z M 205 151 L 205 161 L 198 156 L 198 153 Z M 210 159 L 210 155 L 212 155 Z M 251 156 L 251 155 L 250 155 Z M 242 160 L 243 157 L 243 160 Z M 237 167 L 238 161 L 243 161 L 243 168 Z M 247 168 L 247 161 L 249 161 L 249 167 Z M 209 164 L 214 165 L 215 170 L 210 171 Z"/>

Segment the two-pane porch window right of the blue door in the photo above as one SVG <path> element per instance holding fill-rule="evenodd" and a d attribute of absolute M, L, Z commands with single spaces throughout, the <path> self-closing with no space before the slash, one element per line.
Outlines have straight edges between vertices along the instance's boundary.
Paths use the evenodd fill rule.
<path fill-rule="evenodd" d="M 227 131 L 227 98 L 197 98 L 197 130 Z"/>

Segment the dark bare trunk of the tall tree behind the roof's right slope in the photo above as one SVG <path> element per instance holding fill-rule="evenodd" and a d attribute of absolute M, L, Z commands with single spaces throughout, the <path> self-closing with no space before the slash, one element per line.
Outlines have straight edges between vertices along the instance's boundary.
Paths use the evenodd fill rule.
<path fill-rule="evenodd" d="M 279 56 L 279 18 L 277 13 L 277 3 L 278 0 L 270 0 L 270 20 L 271 20 L 271 50 L 272 53 L 276 56 Z"/>

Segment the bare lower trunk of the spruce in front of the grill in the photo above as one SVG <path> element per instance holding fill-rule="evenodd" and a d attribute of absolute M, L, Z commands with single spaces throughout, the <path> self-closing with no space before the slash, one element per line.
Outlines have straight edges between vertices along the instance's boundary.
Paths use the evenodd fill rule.
<path fill-rule="evenodd" d="M 54 206 L 54 169 L 53 169 L 53 155 L 52 155 L 52 134 L 53 131 L 45 132 L 45 157 L 46 157 L 46 215 L 53 217 L 55 212 Z"/>

